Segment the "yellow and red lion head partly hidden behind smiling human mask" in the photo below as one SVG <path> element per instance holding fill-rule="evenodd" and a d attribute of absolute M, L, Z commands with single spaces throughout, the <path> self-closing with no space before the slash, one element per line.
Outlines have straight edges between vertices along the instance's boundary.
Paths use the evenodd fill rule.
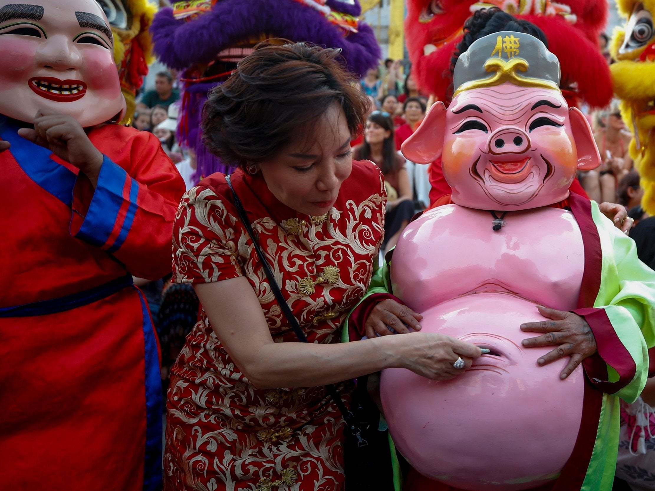
<path fill-rule="evenodd" d="M 119 70 L 127 111 L 122 123 L 134 117 L 134 97 L 153 62 L 148 29 L 157 7 L 147 0 L 97 0 L 105 11 L 114 35 L 114 61 Z"/>

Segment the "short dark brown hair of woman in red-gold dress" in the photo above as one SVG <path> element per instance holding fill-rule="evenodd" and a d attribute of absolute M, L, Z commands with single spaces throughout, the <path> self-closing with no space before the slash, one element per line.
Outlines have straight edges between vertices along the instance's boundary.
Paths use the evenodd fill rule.
<path fill-rule="evenodd" d="M 307 135 L 312 122 L 335 102 L 350 134 L 356 134 L 368 101 L 341 65 L 340 52 L 306 43 L 255 46 L 204 105 L 208 149 L 241 168 L 261 163 L 299 134 Z"/>

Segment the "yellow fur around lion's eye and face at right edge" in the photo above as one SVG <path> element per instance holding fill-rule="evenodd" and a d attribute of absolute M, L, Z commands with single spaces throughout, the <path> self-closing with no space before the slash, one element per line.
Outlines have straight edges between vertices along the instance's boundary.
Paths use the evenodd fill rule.
<path fill-rule="evenodd" d="M 655 0 L 642 0 L 643 5 L 655 16 Z M 622 16 L 632 13 L 635 0 L 617 0 L 616 5 Z M 655 115 L 643 113 L 646 103 L 655 100 L 655 62 L 640 62 L 639 56 L 646 49 L 619 53 L 626 36 L 624 27 L 614 29 L 610 52 L 618 62 L 610 65 L 614 92 L 622 99 L 621 115 L 633 135 L 638 137 L 630 142 L 630 156 L 641 175 L 644 188 L 643 208 L 655 215 Z"/>

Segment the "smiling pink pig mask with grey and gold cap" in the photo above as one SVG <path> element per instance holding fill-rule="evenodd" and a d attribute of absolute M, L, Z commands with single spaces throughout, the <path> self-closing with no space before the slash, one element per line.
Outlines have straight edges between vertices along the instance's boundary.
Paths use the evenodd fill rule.
<path fill-rule="evenodd" d="M 502 40 L 512 34 L 488 37 Z M 550 80 L 519 74 L 533 75 L 520 54 L 500 56 L 502 43 L 500 55 L 486 64 L 469 60 L 470 53 L 479 52 L 476 43 L 486 38 L 479 39 L 457 62 L 458 89 L 449 108 L 441 102 L 432 105 L 403 143 L 402 153 L 412 162 L 428 164 L 441 156 L 455 204 L 490 210 L 548 206 L 569 196 L 578 170 L 600 164 L 586 118 L 575 107 L 569 109 L 559 90 L 557 58 L 538 39 L 520 38 L 543 47 L 538 69 L 550 71 Z M 475 73 L 474 65 L 485 65 L 485 71 Z"/>

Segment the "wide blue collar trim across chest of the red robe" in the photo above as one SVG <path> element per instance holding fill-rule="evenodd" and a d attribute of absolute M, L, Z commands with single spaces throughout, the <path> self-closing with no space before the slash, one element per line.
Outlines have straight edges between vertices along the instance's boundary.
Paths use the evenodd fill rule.
<path fill-rule="evenodd" d="M 77 179 L 74 172 L 52 160 L 50 150 L 20 136 L 15 126 L 2 128 L 0 138 L 11 143 L 8 151 L 32 181 L 71 207 Z"/>

